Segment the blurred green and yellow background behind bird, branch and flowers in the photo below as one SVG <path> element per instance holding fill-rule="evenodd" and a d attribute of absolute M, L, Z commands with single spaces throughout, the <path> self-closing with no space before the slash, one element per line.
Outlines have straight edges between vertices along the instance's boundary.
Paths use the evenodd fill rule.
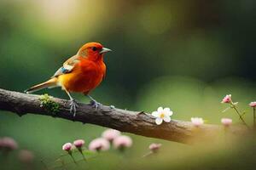
<path fill-rule="evenodd" d="M 148 112 L 165 106 L 174 111 L 173 119 L 201 116 L 207 123 L 219 123 L 227 116 L 239 123 L 233 111 L 221 112 L 225 108 L 221 99 L 232 94 L 252 124 L 247 104 L 256 99 L 255 7 L 253 0 L 1 0 L 0 88 L 22 92 L 51 77 L 85 42 L 102 42 L 113 53 L 105 55 L 106 79 L 91 94 L 101 103 Z M 44 93 L 68 99 L 60 88 L 37 94 Z M 74 95 L 88 102 L 83 95 Z M 32 169 L 43 169 L 40 159 L 54 161 L 62 144 L 74 139 L 88 144 L 104 129 L 0 111 L 0 137 L 10 136 L 20 148 L 32 150 L 36 156 Z M 256 166 L 254 139 L 201 151 L 204 144 L 191 147 L 128 135 L 134 144 L 125 156 L 112 150 L 67 169 Z M 142 159 L 152 142 L 164 144 L 162 152 Z M 25 168 L 15 153 L 3 163 L 3 169 Z"/>

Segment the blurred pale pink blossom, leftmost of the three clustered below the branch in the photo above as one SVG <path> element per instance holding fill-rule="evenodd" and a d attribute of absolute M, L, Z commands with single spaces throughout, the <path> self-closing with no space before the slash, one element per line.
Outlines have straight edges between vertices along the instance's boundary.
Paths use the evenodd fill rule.
<path fill-rule="evenodd" d="M 92 151 L 109 150 L 109 148 L 110 144 L 104 138 L 93 139 L 89 144 L 89 150 Z"/>

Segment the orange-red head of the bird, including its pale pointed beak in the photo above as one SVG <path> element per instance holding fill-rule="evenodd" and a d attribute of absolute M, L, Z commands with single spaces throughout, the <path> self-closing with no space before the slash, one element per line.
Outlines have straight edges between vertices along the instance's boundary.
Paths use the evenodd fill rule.
<path fill-rule="evenodd" d="M 86 57 L 88 59 L 96 60 L 102 59 L 105 53 L 112 51 L 111 49 L 104 48 L 99 42 L 85 43 L 78 52 L 79 56 Z"/>

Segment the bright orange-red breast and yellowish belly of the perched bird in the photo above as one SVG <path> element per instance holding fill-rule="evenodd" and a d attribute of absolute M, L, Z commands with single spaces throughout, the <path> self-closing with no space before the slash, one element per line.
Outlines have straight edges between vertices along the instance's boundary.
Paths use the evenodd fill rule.
<path fill-rule="evenodd" d="M 90 60 L 79 57 L 73 71 L 58 77 L 58 83 L 68 92 L 89 94 L 96 88 L 106 74 L 106 65 L 103 59 Z"/>

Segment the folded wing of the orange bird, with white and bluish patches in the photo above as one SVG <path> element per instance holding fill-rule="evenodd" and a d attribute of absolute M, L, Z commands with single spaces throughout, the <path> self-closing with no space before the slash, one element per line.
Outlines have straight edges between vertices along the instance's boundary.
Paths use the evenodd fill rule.
<path fill-rule="evenodd" d="M 66 74 L 66 73 L 73 71 L 73 68 L 77 63 L 79 63 L 79 56 L 74 55 L 73 57 L 71 57 L 71 58 L 67 59 L 67 61 L 65 61 L 63 66 L 61 66 L 61 68 L 59 68 L 58 71 L 55 72 L 55 75 L 53 77 L 58 77 L 62 74 Z"/>

